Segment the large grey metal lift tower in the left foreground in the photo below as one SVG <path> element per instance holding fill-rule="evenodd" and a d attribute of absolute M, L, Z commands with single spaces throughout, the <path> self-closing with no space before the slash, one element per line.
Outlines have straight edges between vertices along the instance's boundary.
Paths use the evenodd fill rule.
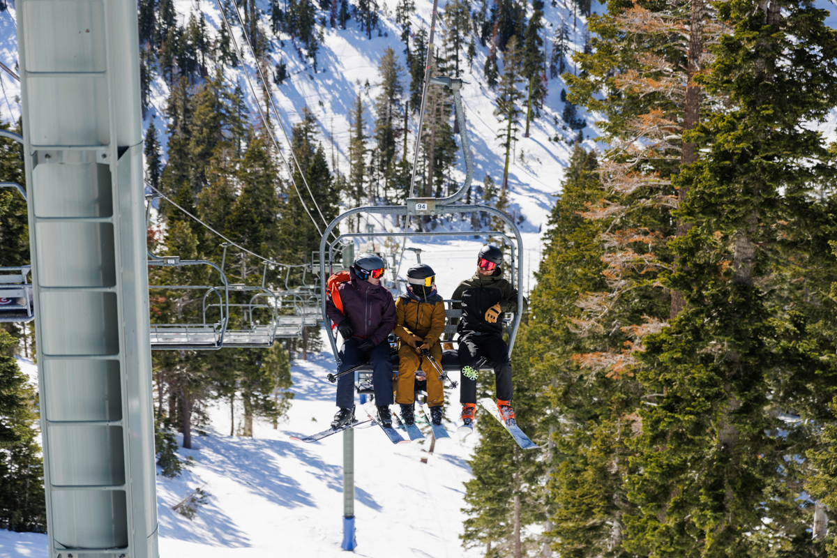
<path fill-rule="evenodd" d="M 18 0 L 51 558 L 157 558 L 135 0 Z"/>

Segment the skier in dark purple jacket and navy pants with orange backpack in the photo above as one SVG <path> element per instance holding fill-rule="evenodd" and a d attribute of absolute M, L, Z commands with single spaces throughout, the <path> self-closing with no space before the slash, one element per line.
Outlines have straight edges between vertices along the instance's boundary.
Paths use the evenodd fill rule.
<path fill-rule="evenodd" d="M 393 363 L 389 360 L 388 336 L 393 332 L 396 317 L 393 295 L 381 286 L 383 266 L 383 259 L 375 254 L 360 254 L 349 268 L 352 280 L 337 288 L 343 311 L 337 309 L 328 294 L 326 312 L 343 338 L 337 371 L 358 366 L 368 358 L 372 365 L 377 418 L 388 428 L 393 425 L 389 411 L 393 404 Z M 354 375 L 340 376 L 337 379 L 337 407 L 340 410 L 331 422 L 332 428 L 355 420 L 354 400 Z"/>

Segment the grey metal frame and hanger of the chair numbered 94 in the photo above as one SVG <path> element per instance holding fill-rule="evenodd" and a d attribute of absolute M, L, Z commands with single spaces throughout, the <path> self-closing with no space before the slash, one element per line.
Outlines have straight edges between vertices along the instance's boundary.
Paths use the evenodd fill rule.
<path fill-rule="evenodd" d="M 331 243 L 328 242 L 329 234 L 332 230 L 334 230 L 337 225 L 343 221 L 344 219 L 351 217 L 357 213 L 379 213 L 379 214 L 388 214 L 388 215 L 405 215 L 405 216 L 424 216 L 424 215 L 444 215 L 449 213 L 460 213 L 460 212 L 486 212 L 490 213 L 497 218 L 500 218 L 501 221 L 506 223 L 511 231 L 514 233 L 514 241 L 509 238 L 505 233 L 501 232 L 481 232 L 475 233 L 474 231 L 466 231 L 466 232 L 416 232 L 416 233 L 383 233 L 373 236 L 386 236 L 386 237 L 439 237 L 439 236 L 474 236 L 475 234 L 480 235 L 491 235 L 491 236 L 499 236 L 503 238 L 506 243 L 511 247 L 511 269 L 510 269 L 510 280 L 513 285 L 517 287 L 517 308 L 519 309 L 511 318 L 508 319 L 508 323 L 511 324 L 511 327 L 508 329 L 509 333 L 509 356 L 511 357 L 511 351 L 515 345 L 515 339 L 517 336 L 517 330 L 520 328 L 521 323 L 521 310 L 523 309 L 523 291 L 521 289 L 521 285 L 523 284 L 523 268 L 521 265 L 517 264 L 517 260 L 521 257 L 523 251 L 523 239 L 521 237 L 520 229 L 517 228 L 516 223 L 509 218 L 506 213 L 497 210 L 495 207 L 490 206 L 483 206 L 483 205 L 465 205 L 465 204 L 456 204 L 463 196 L 465 196 L 465 192 L 468 191 L 470 187 L 471 180 L 474 177 L 474 166 L 473 162 L 471 161 L 471 154 L 470 154 L 470 144 L 468 142 L 468 132 L 465 127 L 465 113 L 462 110 L 462 99 L 460 97 L 460 89 L 462 88 L 462 79 L 456 78 L 449 78 L 449 77 L 436 77 L 429 79 L 429 84 L 434 85 L 443 85 L 447 89 L 451 90 L 454 95 L 454 110 L 456 111 L 456 120 L 459 124 L 460 128 L 460 137 L 462 140 L 462 153 L 465 158 L 465 182 L 463 182 L 462 187 L 455 192 L 453 195 L 449 197 L 408 197 L 407 205 L 404 206 L 367 206 L 367 207 L 356 207 L 354 209 L 350 209 L 347 212 L 341 213 L 337 218 L 335 218 L 331 223 L 329 223 L 326 230 L 323 232 L 322 239 L 320 242 L 320 276 L 321 277 L 328 277 L 326 275 L 326 245 L 328 246 L 328 262 L 329 262 L 329 274 L 334 272 L 334 255 L 335 255 L 335 245 L 341 242 L 341 239 L 344 238 L 352 238 L 352 237 L 368 237 L 370 233 L 347 233 L 341 234 L 338 236 L 334 241 Z M 413 172 L 415 169 L 413 168 Z M 412 191 L 410 192 L 412 194 Z M 516 272 L 516 273 L 515 273 Z M 452 335 L 455 333 L 456 326 L 450 323 L 451 318 L 459 318 L 462 313 L 461 310 L 456 310 L 452 308 L 453 302 L 458 301 L 446 301 L 448 304 L 448 308 L 445 310 L 445 318 L 448 320 L 447 324 L 445 325 L 445 334 L 448 336 L 447 340 L 444 340 L 445 343 L 454 343 L 457 342 L 451 339 Z M 328 315 L 326 314 L 326 281 L 321 281 L 320 284 L 320 310 L 322 315 L 322 320 L 329 324 L 330 320 L 328 319 Z M 508 315 L 508 314 L 507 314 Z M 508 325 L 507 325 L 508 327 Z M 334 331 L 331 330 L 331 327 L 326 327 L 326 335 L 328 335 L 328 341 L 331 345 L 331 351 L 334 354 L 335 360 L 340 362 L 340 356 L 337 352 L 337 344 Z M 397 361 L 398 356 L 393 356 L 393 361 Z M 398 367 L 397 362 L 393 362 L 393 364 Z M 443 361 L 442 367 L 444 371 L 460 371 L 460 361 L 459 357 L 456 355 L 456 351 L 443 351 Z M 362 380 L 365 379 L 363 376 L 367 376 L 372 371 L 371 366 L 364 366 L 357 370 L 358 372 L 362 373 Z M 363 392 L 365 388 L 362 388 L 361 391 Z"/>

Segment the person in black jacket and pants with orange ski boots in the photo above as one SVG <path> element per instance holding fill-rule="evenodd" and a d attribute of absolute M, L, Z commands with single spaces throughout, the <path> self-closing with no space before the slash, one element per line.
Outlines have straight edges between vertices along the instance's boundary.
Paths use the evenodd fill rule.
<path fill-rule="evenodd" d="M 502 279 L 503 253 L 488 244 L 477 257 L 476 273 L 465 279 L 454 290 L 454 308 L 462 309 L 457 331 L 460 334 L 460 365 L 462 366 L 462 421 L 465 426 L 474 422 L 476 408 L 476 375 L 480 358 L 494 366 L 497 408 L 508 423 L 515 412 L 511 408 L 511 360 L 509 347 L 503 340 L 503 312 L 517 311 L 517 289 Z M 523 300 L 526 311 L 526 299 Z"/>

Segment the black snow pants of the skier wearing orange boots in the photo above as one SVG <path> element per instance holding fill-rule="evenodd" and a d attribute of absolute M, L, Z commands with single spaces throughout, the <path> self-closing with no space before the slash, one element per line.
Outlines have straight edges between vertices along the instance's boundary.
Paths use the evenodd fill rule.
<path fill-rule="evenodd" d="M 511 401 L 511 360 L 509 347 L 502 335 L 483 333 L 466 333 L 460 336 L 460 365 L 476 367 L 480 358 L 485 357 L 494 366 L 497 399 Z M 476 380 L 470 380 L 462 375 L 460 387 L 460 403 L 476 402 Z"/>

